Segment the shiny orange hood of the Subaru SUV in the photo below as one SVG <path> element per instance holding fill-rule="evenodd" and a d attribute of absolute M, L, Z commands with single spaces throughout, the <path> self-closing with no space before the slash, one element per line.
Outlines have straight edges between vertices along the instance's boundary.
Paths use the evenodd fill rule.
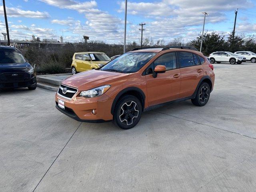
<path fill-rule="evenodd" d="M 129 76 L 127 73 L 117 73 L 102 70 L 89 70 L 66 78 L 62 84 L 85 91 L 98 86 L 107 85 Z"/>

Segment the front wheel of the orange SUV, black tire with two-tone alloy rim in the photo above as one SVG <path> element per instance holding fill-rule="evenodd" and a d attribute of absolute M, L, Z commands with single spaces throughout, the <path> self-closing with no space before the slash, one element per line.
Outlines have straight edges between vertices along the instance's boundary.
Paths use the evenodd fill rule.
<path fill-rule="evenodd" d="M 141 114 L 140 100 L 135 96 L 125 95 L 118 100 L 115 106 L 113 123 L 122 129 L 130 129 L 138 124 Z"/>

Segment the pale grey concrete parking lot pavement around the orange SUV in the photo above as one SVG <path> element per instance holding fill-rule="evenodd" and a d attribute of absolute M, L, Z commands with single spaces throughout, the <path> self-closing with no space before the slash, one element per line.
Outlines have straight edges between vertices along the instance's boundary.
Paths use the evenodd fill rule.
<path fill-rule="evenodd" d="M 255 191 L 256 64 L 214 64 L 208 104 L 144 112 L 122 130 L 77 122 L 55 92 L 0 92 L 0 191 Z"/>

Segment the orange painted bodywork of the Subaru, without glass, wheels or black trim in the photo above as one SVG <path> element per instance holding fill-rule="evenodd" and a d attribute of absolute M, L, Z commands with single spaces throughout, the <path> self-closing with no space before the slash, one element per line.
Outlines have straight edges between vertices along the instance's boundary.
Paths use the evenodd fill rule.
<path fill-rule="evenodd" d="M 152 74 L 142 75 L 144 70 L 156 58 L 168 52 L 192 52 L 204 58 L 202 65 L 190 66 L 186 68 L 177 68 L 168 70 L 165 73 L 159 73 L 156 78 Z M 108 72 L 100 70 L 90 70 L 79 73 L 65 79 L 62 84 L 78 89 L 76 95 L 71 100 L 66 100 L 56 94 L 58 99 L 65 101 L 65 106 L 72 109 L 82 120 L 112 120 L 112 104 L 116 96 L 125 88 L 136 87 L 142 90 L 145 95 L 144 109 L 155 104 L 160 104 L 179 98 L 191 96 L 198 86 L 200 79 L 209 76 L 214 86 L 214 72 L 209 67 L 209 61 L 200 52 L 193 50 L 170 49 L 161 51 L 159 49 L 136 50 L 134 52 L 157 52 L 147 64 L 138 72 L 126 74 L 117 72 Z M 109 90 L 101 96 L 94 98 L 85 98 L 79 96 L 81 91 L 90 90 L 103 85 L 111 85 Z M 92 114 L 92 110 L 97 111 Z"/>

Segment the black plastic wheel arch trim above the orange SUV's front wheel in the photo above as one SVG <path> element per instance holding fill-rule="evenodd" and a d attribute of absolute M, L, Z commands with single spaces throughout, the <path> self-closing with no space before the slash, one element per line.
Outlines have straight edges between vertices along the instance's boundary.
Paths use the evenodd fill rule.
<path fill-rule="evenodd" d="M 118 102 L 119 98 L 121 98 L 124 95 L 132 95 L 132 96 L 135 96 L 136 98 L 138 98 L 138 100 L 140 100 L 140 102 L 141 102 L 142 110 L 144 110 L 145 97 L 146 97 L 144 92 L 138 87 L 128 87 L 128 88 L 125 88 L 124 90 L 120 91 L 114 98 L 112 107 L 111 107 L 112 115 L 114 114 L 114 109 L 115 109 L 116 103 Z"/>

